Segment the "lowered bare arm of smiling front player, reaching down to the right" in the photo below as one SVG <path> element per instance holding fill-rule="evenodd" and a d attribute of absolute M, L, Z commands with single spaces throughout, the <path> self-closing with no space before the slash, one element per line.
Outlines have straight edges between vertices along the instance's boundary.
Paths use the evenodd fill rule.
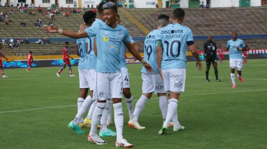
<path fill-rule="evenodd" d="M 124 45 L 128 48 L 128 51 L 139 61 L 141 61 L 148 71 L 149 74 L 154 72 L 153 68 L 150 66 L 149 63 L 146 62 L 140 55 L 139 52 L 132 46 L 131 42 L 124 43 Z"/>

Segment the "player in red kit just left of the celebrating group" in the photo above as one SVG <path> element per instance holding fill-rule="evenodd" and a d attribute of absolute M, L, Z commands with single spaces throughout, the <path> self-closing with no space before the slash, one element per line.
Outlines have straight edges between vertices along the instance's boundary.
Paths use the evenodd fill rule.
<path fill-rule="evenodd" d="M 73 58 L 70 55 L 68 55 L 68 42 L 65 42 L 65 47 L 63 48 L 63 66 L 56 73 L 56 75 L 58 77 L 60 77 L 60 73 L 63 71 L 63 69 L 66 68 L 66 65 L 68 66 L 69 76 L 75 76 L 75 75 L 72 74 L 71 64 L 70 64 L 69 58 L 71 60 L 73 60 Z"/>

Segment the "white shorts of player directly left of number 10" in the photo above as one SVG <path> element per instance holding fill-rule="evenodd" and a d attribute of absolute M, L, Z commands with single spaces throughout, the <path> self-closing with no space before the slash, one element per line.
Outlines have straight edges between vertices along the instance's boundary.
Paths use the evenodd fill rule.
<path fill-rule="evenodd" d="M 143 79 L 143 84 L 142 84 L 143 94 L 150 93 L 153 91 L 155 91 L 155 94 L 166 93 L 166 91 L 164 90 L 163 80 L 161 79 L 159 74 L 150 75 L 142 73 L 142 79 Z"/>

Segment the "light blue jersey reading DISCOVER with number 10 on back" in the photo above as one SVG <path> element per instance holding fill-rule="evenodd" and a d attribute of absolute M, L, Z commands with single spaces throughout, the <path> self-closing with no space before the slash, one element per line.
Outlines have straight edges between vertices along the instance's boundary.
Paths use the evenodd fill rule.
<path fill-rule="evenodd" d="M 186 68 L 186 43 L 194 41 L 193 33 L 179 23 L 172 23 L 158 30 L 157 40 L 162 41 L 161 69 Z"/>

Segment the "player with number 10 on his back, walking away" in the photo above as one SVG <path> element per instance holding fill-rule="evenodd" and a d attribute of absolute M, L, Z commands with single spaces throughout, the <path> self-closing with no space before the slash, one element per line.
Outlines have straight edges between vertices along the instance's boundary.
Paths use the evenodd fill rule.
<path fill-rule="evenodd" d="M 199 70 L 202 69 L 201 60 L 194 45 L 193 33 L 188 27 L 182 25 L 184 10 L 176 8 L 171 17 L 173 22 L 157 31 L 158 69 L 164 81 L 164 88 L 169 93 L 167 116 L 159 134 L 167 133 L 168 123 L 173 117 L 178 121 L 178 99 L 185 87 L 186 44 L 197 60 Z M 184 126 L 179 123 L 173 126 L 173 131 L 181 130 L 184 130 Z"/>

